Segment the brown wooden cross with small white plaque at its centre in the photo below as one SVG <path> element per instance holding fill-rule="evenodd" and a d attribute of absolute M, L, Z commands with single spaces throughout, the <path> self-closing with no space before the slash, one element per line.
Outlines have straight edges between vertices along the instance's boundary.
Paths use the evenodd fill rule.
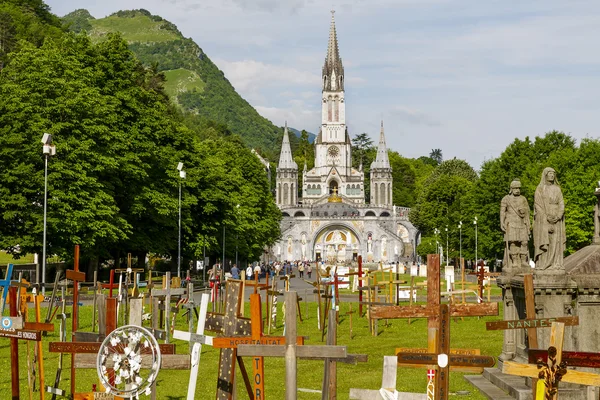
<path fill-rule="evenodd" d="M 448 304 L 440 304 L 440 329 L 435 353 L 398 353 L 398 364 L 436 365 L 435 399 L 447 400 L 450 394 L 450 367 L 493 367 L 493 357 L 452 354 L 450 352 L 450 312 Z"/>

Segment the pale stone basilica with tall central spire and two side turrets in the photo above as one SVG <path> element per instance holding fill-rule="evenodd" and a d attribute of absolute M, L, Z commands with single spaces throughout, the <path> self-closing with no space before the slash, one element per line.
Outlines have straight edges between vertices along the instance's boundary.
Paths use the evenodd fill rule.
<path fill-rule="evenodd" d="M 287 126 L 283 134 L 275 188 L 283 219 L 274 256 L 281 261 L 329 263 L 353 261 L 358 255 L 367 262 L 410 261 L 420 236 L 408 219 L 410 210 L 392 201 L 392 168 L 383 122 L 377 158 L 370 168 L 368 203 L 362 165 L 352 167 L 344 78 L 332 13 L 322 71 L 322 118 L 314 144 L 315 164 L 311 170 L 306 165 L 302 170 L 301 196 Z"/>

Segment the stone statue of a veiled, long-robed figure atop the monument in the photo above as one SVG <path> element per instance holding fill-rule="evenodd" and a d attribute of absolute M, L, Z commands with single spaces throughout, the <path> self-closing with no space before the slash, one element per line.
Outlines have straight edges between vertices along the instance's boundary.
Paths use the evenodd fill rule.
<path fill-rule="evenodd" d="M 535 268 L 564 269 L 563 253 L 567 244 L 565 234 L 565 202 L 554 169 L 542 172 L 535 189 L 533 213 L 533 243 Z"/>

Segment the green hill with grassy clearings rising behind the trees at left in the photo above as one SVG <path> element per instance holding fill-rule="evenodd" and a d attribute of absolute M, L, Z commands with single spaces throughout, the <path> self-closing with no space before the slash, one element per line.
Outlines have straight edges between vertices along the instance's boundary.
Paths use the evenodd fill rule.
<path fill-rule="evenodd" d="M 226 126 L 269 158 L 278 154 L 281 128 L 260 116 L 202 49 L 171 22 L 146 10 L 119 11 L 101 19 L 76 10 L 63 21 L 73 31 L 87 31 L 94 41 L 120 32 L 146 66 L 154 65 L 165 74 L 165 89 L 183 110 Z"/>

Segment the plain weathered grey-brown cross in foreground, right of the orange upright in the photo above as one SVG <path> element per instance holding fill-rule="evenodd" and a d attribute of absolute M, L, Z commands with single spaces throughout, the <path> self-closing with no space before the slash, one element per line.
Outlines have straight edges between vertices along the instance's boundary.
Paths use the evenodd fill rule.
<path fill-rule="evenodd" d="M 287 304 L 285 314 L 285 345 L 238 345 L 239 356 L 285 357 L 285 398 L 296 400 L 298 373 L 297 357 L 311 359 L 343 359 L 346 357 L 346 346 L 298 346 L 296 330 L 296 292 L 285 292 Z"/>

